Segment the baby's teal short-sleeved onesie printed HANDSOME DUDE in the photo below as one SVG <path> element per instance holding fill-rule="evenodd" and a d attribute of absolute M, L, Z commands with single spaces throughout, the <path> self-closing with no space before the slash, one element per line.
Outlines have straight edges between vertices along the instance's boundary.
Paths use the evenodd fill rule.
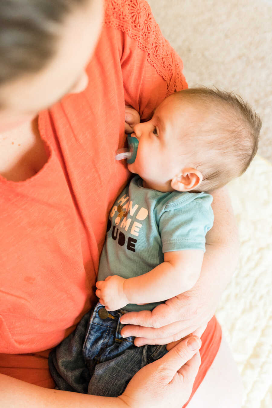
<path fill-rule="evenodd" d="M 210 194 L 162 193 L 144 188 L 141 177 L 133 177 L 111 208 L 97 280 L 142 275 L 164 262 L 165 252 L 205 252 L 205 235 L 214 219 L 211 203 Z M 122 309 L 153 310 L 160 303 Z"/>

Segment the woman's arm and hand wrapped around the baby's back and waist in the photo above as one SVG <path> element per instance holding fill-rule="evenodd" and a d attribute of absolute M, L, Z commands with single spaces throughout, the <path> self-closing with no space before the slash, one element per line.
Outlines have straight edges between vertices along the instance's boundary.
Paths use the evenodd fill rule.
<path fill-rule="evenodd" d="M 137 336 L 134 341 L 137 346 L 176 341 L 200 326 L 205 327 L 215 313 L 237 265 L 239 238 L 227 188 L 214 191 L 212 195 L 215 221 L 206 235 L 206 252 L 195 286 L 160 304 L 152 312 L 142 310 L 121 317 L 121 322 L 127 324 L 121 334 Z"/>

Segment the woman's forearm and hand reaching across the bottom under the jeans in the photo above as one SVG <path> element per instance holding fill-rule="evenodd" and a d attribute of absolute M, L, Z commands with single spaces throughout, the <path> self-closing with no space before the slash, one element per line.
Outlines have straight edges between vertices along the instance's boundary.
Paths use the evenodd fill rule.
<path fill-rule="evenodd" d="M 42 388 L 0 374 L 1 408 L 180 408 L 199 370 L 201 341 L 190 336 L 141 368 L 117 398 Z"/>

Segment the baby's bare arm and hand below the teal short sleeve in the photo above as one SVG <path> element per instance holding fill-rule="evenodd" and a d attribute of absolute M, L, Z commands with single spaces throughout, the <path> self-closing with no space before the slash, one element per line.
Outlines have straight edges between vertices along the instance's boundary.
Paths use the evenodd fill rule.
<path fill-rule="evenodd" d="M 161 302 L 183 293 L 199 278 L 203 251 L 189 249 L 164 253 L 164 262 L 137 277 L 124 279 L 108 276 L 97 282 L 96 295 L 107 310 L 117 310 L 128 303 Z"/>

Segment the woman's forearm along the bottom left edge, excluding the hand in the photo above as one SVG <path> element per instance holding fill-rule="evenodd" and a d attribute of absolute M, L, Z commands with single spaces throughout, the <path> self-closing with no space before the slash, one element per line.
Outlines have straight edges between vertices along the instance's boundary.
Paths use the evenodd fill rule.
<path fill-rule="evenodd" d="M 0 374 L 1 408 L 127 408 L 119 398 L 39 387 Z"/>

